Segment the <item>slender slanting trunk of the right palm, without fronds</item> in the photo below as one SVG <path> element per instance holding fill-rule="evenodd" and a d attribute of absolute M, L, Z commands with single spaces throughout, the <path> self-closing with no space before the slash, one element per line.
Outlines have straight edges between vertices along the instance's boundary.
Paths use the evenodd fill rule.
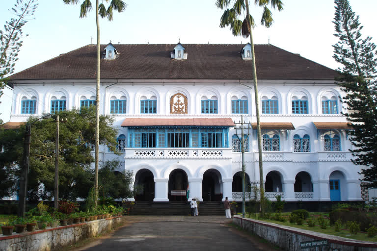
<path fill-rule="evenodd" d="M 254 81 L 255 109 L 257 112 L 256 115 L 257 115 L 257 137 L 258 137 L 258 156 L 259 156 L 259 183 L 260 183 L 260 194 L 261 194 L 261 211 L 263 211 L 262 200 L 264 199 L 264 196 L 265 196 L 265 189 L 264 189 L 264 183 L 263 183 L 261 122 L 259 119 L 257 69 L 255 66 L 254 42 L 253 42 L 248 0 L 246 0 L 246 15 L 247 15 L 247 22 L 249 23 L 249 27 L 250 27 L 250 45 L 251 45 L 251 56 L 252 56 L 251 63 L 252 63 L 253 81 Z"/>

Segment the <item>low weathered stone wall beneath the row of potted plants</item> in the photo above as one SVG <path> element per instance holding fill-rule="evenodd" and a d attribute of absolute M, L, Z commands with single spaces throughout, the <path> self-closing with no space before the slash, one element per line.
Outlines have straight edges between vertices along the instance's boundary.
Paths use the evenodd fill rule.
<path fill-rule="evenodd" d="M 122 216 L 34 232 L 0 235 L 0 251 L 57 251 L 122 224 Z"/>

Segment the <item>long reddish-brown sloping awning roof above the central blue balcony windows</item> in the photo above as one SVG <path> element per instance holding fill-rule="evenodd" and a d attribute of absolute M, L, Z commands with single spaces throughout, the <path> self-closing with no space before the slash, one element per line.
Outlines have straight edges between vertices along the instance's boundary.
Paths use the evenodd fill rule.
<path fill-rule="evenodd" d="M 125 119 L 121 126 L 234 126 L 230 118 L 215 119 Z"/>

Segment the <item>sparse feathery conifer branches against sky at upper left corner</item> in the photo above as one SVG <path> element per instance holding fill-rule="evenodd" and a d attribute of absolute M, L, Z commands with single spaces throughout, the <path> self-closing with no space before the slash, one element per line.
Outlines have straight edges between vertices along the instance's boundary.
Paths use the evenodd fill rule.
<path fill-rule="evenodd" d="M 17 18 L 6 21 L 4 30 L 0 30 L 0 97 L 2 89 L 8 81 L 8 75 L 14 71 L 14 66 L 18 60 L 18 52 L 22 46 L 22 28 L 27 23 L 35 9 L 38 7 L 37 0 L 16 0 L 14 6 L 9 10 Z M 27 36 L 27 35 L 26 35 Z"/>

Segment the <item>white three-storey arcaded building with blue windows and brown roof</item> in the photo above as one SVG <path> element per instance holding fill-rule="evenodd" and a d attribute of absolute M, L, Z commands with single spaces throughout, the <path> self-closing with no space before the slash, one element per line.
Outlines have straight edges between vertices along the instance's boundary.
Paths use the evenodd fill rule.
<path fill-rule="evenodd" d="M 250 45 L 102 47 L 100 110 L 115 118 L 120 158 L 142 187 L 137 201 L 240 201 L 259 181 Z M 266 195 L 285 201 L 360 201 L 358 172 L 336 72 L 272 45 L 256 45 Z M 87 45 L 11 77 L 10 122 L 95 102 L 96 46 Z M 247 85 L 249 87 L 246 87 Z"/>

